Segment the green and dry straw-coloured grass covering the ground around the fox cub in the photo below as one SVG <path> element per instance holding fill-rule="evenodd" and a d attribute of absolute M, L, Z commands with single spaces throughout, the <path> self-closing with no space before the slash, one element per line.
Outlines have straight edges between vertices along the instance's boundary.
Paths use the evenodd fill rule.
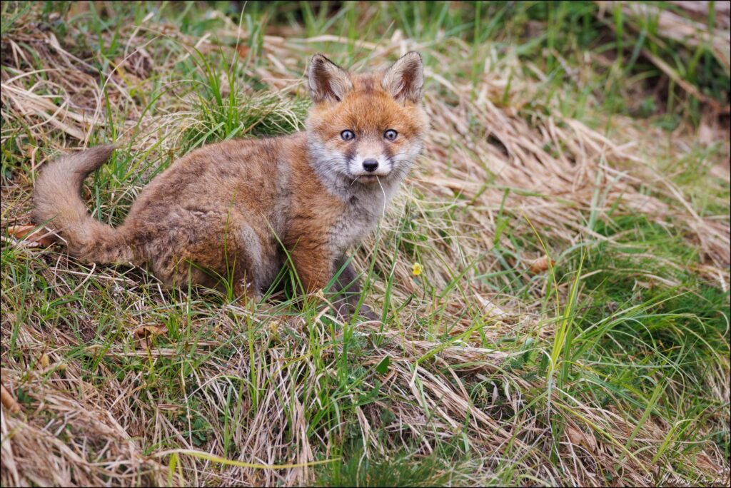
<path fill-rule="evenodd" d="M 4 2 L 3 486 L 727 485 L 728 16 L 642 6 Z M 382 321 L 7 238 L 61 150 L 118 144 L 83 187 L 116 225 L 302 129 L 311 54 L 408 49 L 431 133 L 353 258 Z"/>

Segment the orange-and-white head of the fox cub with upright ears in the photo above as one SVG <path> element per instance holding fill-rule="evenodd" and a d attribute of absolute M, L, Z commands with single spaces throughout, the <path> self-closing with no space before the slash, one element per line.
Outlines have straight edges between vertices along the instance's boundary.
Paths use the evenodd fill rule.
<path fill-rule="evenodd" d="M 350 186 L 398 182 L 423 146 L 423 65 L 406 53 L 382 72 L 357 75 L 321 54 L 308 67 L 314 107 L 307 119 L 311 162 Z"/>

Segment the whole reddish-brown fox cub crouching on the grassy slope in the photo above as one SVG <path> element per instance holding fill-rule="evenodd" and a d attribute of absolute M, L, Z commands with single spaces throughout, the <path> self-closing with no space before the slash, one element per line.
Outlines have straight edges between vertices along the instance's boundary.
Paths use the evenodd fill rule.
<path fill-rule="evenodd" d="M 342 270 L 333 291 L 347 315 L 360 289 L 346 251 L 374 230 L 423 147 L 423 82 L 418 53 L 363 75 L 317 54 L 305 131 L 194 150 L 144 188 L 116 229 L 79 197 L 113 147 L 64 156 L 37 180 L 34 219 L 87 262 L 132 262 L 171 286 L 220 286 L 232 276 L 235 294 L 253 299 L 273 283 L 286 250 L 307 292 Z"/>

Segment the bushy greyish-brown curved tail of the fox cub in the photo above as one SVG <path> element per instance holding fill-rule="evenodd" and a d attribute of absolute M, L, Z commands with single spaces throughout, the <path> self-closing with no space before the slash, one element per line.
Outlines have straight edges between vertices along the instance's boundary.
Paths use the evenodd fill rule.
<path fill-rule="evenodd" d="M 53 229 L 67 241 L 69 253 L 88 262 L 129 262 L 132 248 L 124 232 L 89 215 L 79 196 L 81 183 L 102 166 L 113 145 L 62 156 L 42 170 L 33 192 L 36 224 Z"/>

